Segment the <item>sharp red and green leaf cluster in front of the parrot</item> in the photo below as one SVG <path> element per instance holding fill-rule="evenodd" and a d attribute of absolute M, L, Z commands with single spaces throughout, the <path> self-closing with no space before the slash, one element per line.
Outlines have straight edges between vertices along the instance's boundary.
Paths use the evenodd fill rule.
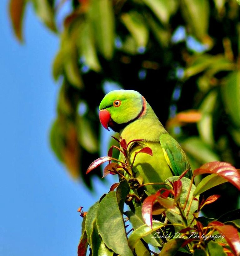
<path fill-rule="evenodd" d="M 148 184 L 138 180 L 133 186 L 135 177 L 128 157 L 129 144 L 121 138 L 118 142 L 119 148 L 111 147 L 107 157 L 98 158 L 87 170 L 89 173 L 109 161 L 104 176 L 118 174 L 122 181 L 113 184 L 109 193 L 84 216 L 82 228 L 85 235 L 80 240 L 78 255 L 86 255 L 88 245 L 91 255 L 240 255 L 237 216 L 240 210 L 227 212 L 218 219 L 201 216 L 202 208 L 218 200 L 220 195 L 211 195 L 207 199 L 200 196 L 225 182 L 240 190 L 240 173 L 236 168 L 226 162 L 206 163 L 193 171 L 191 180 L 184 177 L 186 170 L 181 176 L 168 178 L 165 183 L 156 183 L 159 185 L 156 193 L 143 198 L 139 189 Z M 113 148 L 124 154 L 124 161 L 111 156 Z M 136 155 L 138 153 L 151 155 L 151 149 L 143 148 Z M 209 175 L 195 186 L 194 178 L 206 173 Z M 125 204 L 130 210 L 125 210 Z M 91 240 L 96 234 L 98 240 Z M 101 254 L 102 248 L 105 254 Z"/>

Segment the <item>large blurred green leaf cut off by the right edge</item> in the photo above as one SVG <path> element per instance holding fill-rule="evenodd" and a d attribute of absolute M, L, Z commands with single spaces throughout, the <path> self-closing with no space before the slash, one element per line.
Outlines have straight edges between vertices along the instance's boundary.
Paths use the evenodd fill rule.
<path fill-rule="evenodd" d="M 222 98 L 235 127 L 240 128 L 240 72 L 231 72 L 222 86 Z"/>

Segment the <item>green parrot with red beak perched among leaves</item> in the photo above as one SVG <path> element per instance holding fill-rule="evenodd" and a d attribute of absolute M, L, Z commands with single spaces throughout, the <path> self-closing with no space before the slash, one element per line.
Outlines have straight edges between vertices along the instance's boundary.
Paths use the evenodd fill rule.
<path fill-rule="evenodd" d="M 133 164 L 133 176 L 143 183 L 164 182 L 171 176 L 192 177 L 192 170 L 183 149 L 164 129 L 146 99 L 134 90 L 114 90 L 105 95 L 99 105 L 99 119 L 104 128 L 119 132 L 130 145 L 130 160 L 141 148 L 150 147 L 153 155 L 140 153 Z M 121 158 L 120 154 L 120 158 Z M 148 185 L 153 194 L 159 185 Z"/>

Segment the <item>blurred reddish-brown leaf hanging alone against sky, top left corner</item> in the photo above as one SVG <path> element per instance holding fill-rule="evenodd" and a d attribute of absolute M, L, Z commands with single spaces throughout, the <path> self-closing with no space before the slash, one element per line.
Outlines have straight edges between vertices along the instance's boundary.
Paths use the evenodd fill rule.
<path fill-rule="evenodd" d="M 22 38 L 22 20 L 26 7 L 26 0 L 10 0 L 9 1 L 9 14 L 11 17 L 12 27 L 14 33 L 19 41 Z"/>

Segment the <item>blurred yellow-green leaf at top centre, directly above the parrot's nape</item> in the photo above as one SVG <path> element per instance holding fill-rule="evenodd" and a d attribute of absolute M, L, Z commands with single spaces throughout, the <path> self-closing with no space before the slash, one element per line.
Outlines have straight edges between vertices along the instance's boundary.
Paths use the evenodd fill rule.
<path fill-rule="evenodd" d="M 123 13 L 121 15 L 121 20 L 136 40 L 138 47 L 146 47 L 149 32 L 143 16 L 136 11 L 130 11 L 128 13 Z"/>

